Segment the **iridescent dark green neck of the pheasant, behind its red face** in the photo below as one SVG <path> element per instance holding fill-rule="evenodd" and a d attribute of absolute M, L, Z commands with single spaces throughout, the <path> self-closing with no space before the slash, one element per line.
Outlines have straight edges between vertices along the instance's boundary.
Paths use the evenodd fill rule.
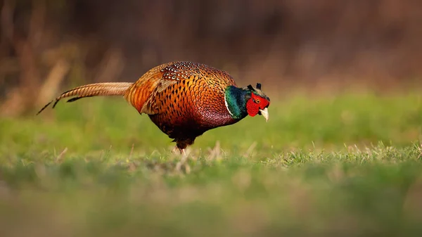
<path fill-rule="evenodd" d="M 231 117 L 235 120 L 241 120 L 248 115 L 246 111 L 247 97 L 250 96 L 250 91 L 238 87 L 229 86 L 226 88 L 224 99 L 226 107 L 229 110 Z"/>

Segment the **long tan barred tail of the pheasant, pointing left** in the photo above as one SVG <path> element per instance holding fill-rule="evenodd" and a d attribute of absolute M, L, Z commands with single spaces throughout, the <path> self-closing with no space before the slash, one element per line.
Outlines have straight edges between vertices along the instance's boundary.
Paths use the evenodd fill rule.
<path fill-rule="evenodd" d="M 58 96 L 53 101 L 47 103 L 39 112 L 42 112 L 47 106 L 53 103 L 53 108 L 56 107 L 58 101 L 62 98 L 76 96 L 74 98 L 70 98 L 67 102 L 77 101 L 79 98 L 91 97 L 91 96 L 124 96 L 124 93 L 127 89 L 132 86 L 133 82 L 102 82 L 102 83 L 95 83 L 95 84 L 87 84 L 81 87 L 76 87 L 69 91 L 63 92 L 60 96 Z"/>

